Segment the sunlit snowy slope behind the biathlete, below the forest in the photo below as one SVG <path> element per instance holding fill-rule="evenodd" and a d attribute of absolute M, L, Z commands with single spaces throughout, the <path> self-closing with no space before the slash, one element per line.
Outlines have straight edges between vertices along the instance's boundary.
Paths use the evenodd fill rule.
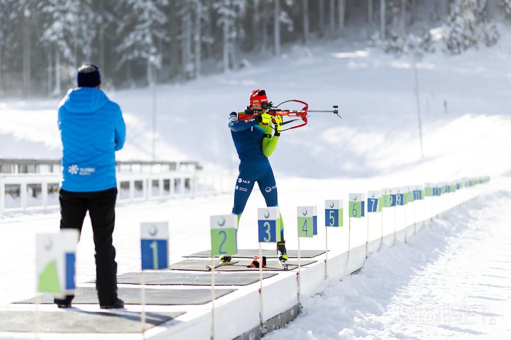
<path fill-rule="evenodd" d="M 504 29 L 504 32 L 505 31 Z M 305 100 L 311 109 L 339 105 L 341 116 L 319 114 L 306 128 L 283 133 L 272 156 L 277 175 L 373 177 L 415 169 L 442 175 L 500 175 L 511 128 L 508 91 L 511 43 L 461 56 L 427 55 L 417 64 L 423 116 L 420 160 L 413 70 L 408 57 L 353 43 L 289 47 L 268 59 L 225 75 L 157 87 L 157 154 L 160 159 L 196 159 L 236 169 L 237 156 L 226 115 L 242 110 L 253 88 L 266 88 L 274 103 Z M 151 90 L 109 91 L 125 112 L 128 140 L 119 159 L 149 159 Z M 444 110 L 444 101 L 447 112 Z M 57 100 L 0 103 L 1 157 L 60 154 L 54 108 Z M 37 147 L 37 144 L 40 146 Z M 446 166 L 447 165 L 447 166 Z"/>

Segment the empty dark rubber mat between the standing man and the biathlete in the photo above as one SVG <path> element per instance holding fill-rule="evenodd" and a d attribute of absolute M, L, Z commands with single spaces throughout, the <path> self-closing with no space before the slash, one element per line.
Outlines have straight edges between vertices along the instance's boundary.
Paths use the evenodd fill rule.
<path fill-rule="evenodd" d="M 263 280 L 277 275 L 264 273 Z M 211 286 L 211 274 L 207 273 L 179 273 L 179 272 L 144 272 L 144 281 L 147 285 L 192 285 Z M 259 274 L 238 273 L 219 274 L 215 276 L 215 286 L 246 286 L 259 281 Z M 117 277 L 117 283 L 142 284 L 141 273 L 126 273 Z"/>

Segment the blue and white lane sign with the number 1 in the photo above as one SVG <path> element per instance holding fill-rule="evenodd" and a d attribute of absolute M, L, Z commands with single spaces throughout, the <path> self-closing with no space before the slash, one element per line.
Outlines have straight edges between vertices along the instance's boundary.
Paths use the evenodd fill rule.
<path fill-rule="evenodd" d="M 140 224 L 142 270 L 169 268 L 169 223 Z"/>

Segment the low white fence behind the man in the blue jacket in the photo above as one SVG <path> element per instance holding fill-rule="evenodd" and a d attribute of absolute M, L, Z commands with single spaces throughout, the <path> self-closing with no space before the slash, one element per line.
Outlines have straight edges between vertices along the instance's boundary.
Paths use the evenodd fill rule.
<path fill-rule="evenodd" d="M 225 192 L 226 175 L 203 171 L 118 173 L 118 202 L 196 197 Z M 0 215 L 59 206 L 59 174 L 0 175 Z"/>

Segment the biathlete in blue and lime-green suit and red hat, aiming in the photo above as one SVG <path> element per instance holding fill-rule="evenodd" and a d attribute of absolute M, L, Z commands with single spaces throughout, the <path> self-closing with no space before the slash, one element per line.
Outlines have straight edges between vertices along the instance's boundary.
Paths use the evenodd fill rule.
<path fill-rule="evenodd" d="M 266 104 L 265 104 L 266 103 Z M 272 117 L 266 113 L 268 98 L 265 90 L 253 90 L 250 94 L 250 105 L 242 114 L 257 116 L 238 120 L 238 114 L 229 114 L 229 123 L 234 145 L 240 158 L 239 175 L 236 180 L 234 193 L 233 213 L 238 215 L 238 221 L 245 209 L 248 197 L 255 182 L 263 193 L 266 206 L 276 207 L 277 186 L 268 157 L 276 148 L 282 129 L 282 117 Z M 275 123 L 272 123 L 272 118 Z M 272 128 L 274 125 L 274 128 Z M 286 241 L 284 240 L 284 224 L 281 218 L 281 242 L 277 242 L 277 255 L 281 261 L 288 259 Z M 225 256 L 222 261 L 230 261 L 230 256 Z"/>

